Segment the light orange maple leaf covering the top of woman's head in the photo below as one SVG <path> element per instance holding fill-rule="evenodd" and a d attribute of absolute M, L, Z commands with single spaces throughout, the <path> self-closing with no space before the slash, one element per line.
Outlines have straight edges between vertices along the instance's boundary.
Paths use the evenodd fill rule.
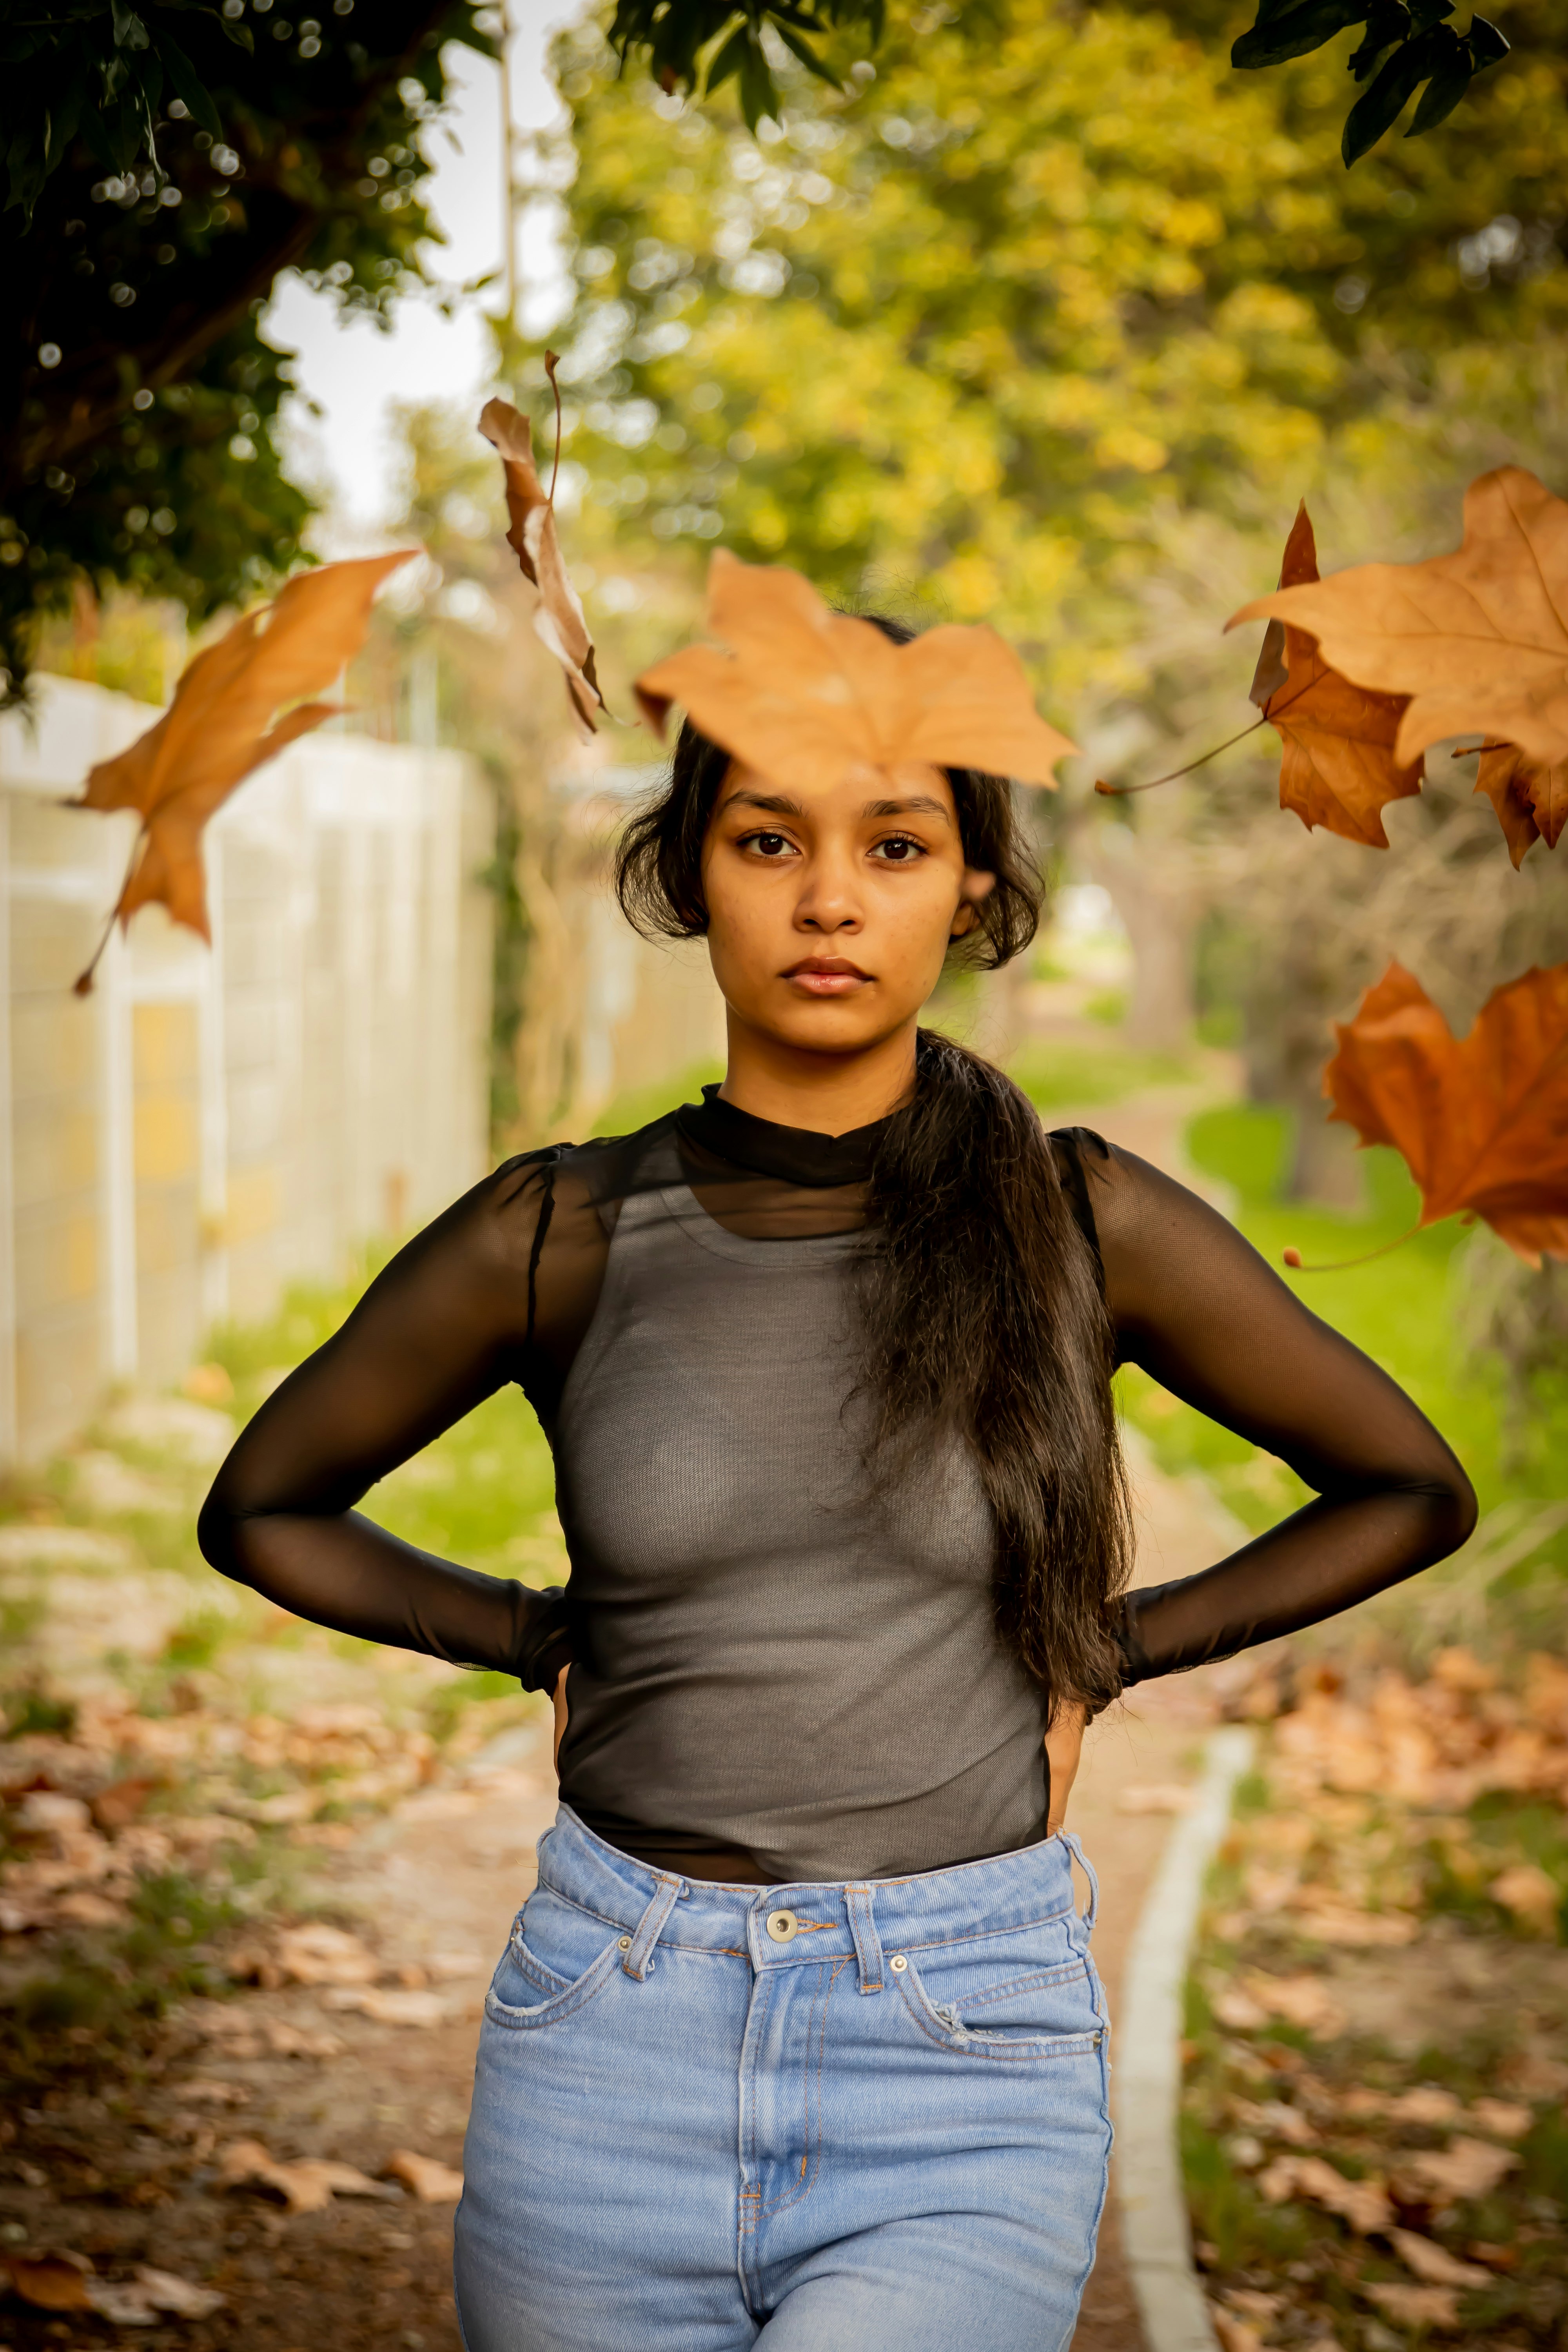
<path fill-rule="evenodd" d="M 1056 762 L 1077 748 L 1039 717 L 1018 654 L 990 628 L 947 623 L 893 644 L 830 612 L 799 572 L 724 548 L 708 574 L 708 626 L 733 652 L 691 644 L 644 670 L 649 727 L 663 734 L 682 703 L 710 743 L 795 790 L 922 767 L 1056 786 Z"/>

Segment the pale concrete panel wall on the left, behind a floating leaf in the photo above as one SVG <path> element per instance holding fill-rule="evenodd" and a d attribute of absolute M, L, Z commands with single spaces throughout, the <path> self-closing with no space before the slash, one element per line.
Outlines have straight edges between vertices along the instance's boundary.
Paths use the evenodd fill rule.
<path fill-rule="evenodd" d="M 0 720 L 0 1461 L 489 1157 L 489 797 L 458 753 L 296 743 L 209 828 L 212 950 L 150 908 L 71 993 L 134 818 L 59 802 L 153 717 L 42 677 Z"/>

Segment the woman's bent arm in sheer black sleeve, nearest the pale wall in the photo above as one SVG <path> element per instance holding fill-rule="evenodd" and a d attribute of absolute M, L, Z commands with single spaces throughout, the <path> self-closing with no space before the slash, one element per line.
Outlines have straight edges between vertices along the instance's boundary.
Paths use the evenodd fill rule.
<path fill-rule="evenodd" d="M 475 1185 L 268 1397 L 197 1522 L 214 1569 L 317 1625 L 555 1684 L 559 1595 L 435 1559 L 353 1508 L 524 1371 L 550 1174 L 531 1157 Z"/>

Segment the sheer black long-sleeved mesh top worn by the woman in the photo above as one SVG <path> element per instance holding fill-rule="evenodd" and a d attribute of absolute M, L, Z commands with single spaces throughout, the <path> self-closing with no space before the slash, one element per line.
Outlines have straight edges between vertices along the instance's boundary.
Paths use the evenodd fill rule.
<path fill-rule="evenodd" d="M 877 1136 L 773 1127 L 708 1089 L 632 1138 L 508 1162 L 268 1397 L 207 1498 L 202 1552 L 299 1616 L 529 1689 L 571 1663 L 562 1795 L 646 1860 L 773 1882 L 940 1867 L 1041 1835 L 1039 1719 L 1011 1663 L 980 1658 L 985 1526 L 961 1465 L 924 1510 L 947 1550 L 929 1526 L 856 1519 L 844 1552 L 846 1503 L 818 1491 L 830 1421 L 811 1423 L 788 1331 L 823 1324 L 827 1294 L 802 1284 L 842 1268 L 832 1237 L 863 1230 Z M 1474 1496 L 1432 1423 L 1222 1216 L 1086 1129 L 1051 1141 L 1119 1359 L 1314 1489 L 1204 1573 L 1126 1595 L 1128 1684 L 1312 1625 L 1465 1538 Z M 811 1385 L 839 1383 L 842 1418 L 837 1367 L 823 1343 Z M 355 1510 L 508 1381 L 557 1456 L 567 1590 L 435 1559 Z M 811 1526 L 783 1524 L 797 1503 Z M 837 1621 L 860 1583 L 877 1613 Z M 884 1703 L 891 1759 L 870 1771 Z M 823 1733 L 769 1740 L 759 1773 L 750 1726 L 769 1705 Z"/>

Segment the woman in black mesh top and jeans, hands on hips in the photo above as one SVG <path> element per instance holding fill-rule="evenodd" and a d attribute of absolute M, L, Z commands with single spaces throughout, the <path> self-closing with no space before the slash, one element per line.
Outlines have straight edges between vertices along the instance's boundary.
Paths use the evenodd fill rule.
<path fill-rule="evenodd" d="M 1067 2345 L 1110 2147 L 1060 1835 L 1084 1722 L 1474 1515 L 1408 1397 L 1220 1216 L 917 1028 L 950 955 L 1034 934 L 1011 788 L 764 767 L 686 724 L 618 866 L 635 922 L 708 938 L 724 1084 L 480 1183 L 202 1517 L 287 1609 L 564 1719 L 480 2042 L 470 2352 Z M 1117 1359 L 1316 1501 L 1124 1595 Z M 503 1381 L 555 1449 L 557 1595 L 353 1510 Z"/>

